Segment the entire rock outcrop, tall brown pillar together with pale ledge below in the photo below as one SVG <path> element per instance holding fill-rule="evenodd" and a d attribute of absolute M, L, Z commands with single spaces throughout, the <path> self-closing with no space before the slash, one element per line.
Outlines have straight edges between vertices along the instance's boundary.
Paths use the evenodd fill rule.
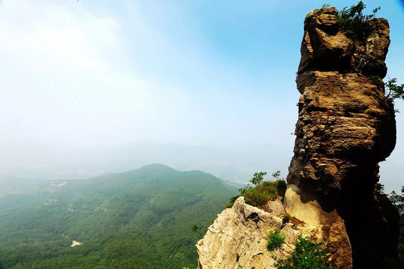
<path fill-rule="evenodd" d="M 389 25 L 368 21 L 370 31 L 352 40 L 337 15 L 325 8 L 305 20 L 296 140 L 283 202 L 292 223 L 282 228 L 285 212 L 266 212 L 240 197 L 198 242 L 199 268 L 273 268 L 275 259 L 292 252 L 297 234 L 324 241 L 338 268 L 381 268 L 397 256 L 398 229 L 375 198 L 378 163 L 396 140 L 393 104 L 381 81 Z M 286 242 L 268 252 L 268 232 L 279 228 Z"/>

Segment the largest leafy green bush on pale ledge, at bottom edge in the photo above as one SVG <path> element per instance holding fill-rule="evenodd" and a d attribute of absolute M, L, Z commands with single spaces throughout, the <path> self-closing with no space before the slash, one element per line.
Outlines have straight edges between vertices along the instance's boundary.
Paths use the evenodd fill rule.
<path fill-rule="evenodd" d="M 310 237 L 299 235 L 293 253 L 286 259 L 278 259 L 274 266 L 278 269 L 329 269 L 331 266 L 324 244 L 312 242 Z"/>

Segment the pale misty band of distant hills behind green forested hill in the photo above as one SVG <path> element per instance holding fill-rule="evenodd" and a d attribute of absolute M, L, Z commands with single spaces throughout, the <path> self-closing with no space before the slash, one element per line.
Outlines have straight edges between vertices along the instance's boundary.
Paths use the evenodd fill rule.
<path fill-rule="evenodd" d="M 247 182 L 257 171 L 281 170 L 285 175 L 293 152 L 281 145 L 238 148 L 185 146 L 140 140 L 119 146 L 84 149 L 31 144 L 5 148 L 0 174 L 50 179 L 83 179 L 119 173 L 153 163 L 177 170 L 201 170 L 228 181 Z"/>

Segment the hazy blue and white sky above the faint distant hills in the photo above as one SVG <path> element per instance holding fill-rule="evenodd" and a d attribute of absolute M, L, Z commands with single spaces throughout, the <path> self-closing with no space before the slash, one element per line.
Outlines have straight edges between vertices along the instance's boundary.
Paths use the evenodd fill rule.
<path fill-rule="evenodd" d="M 0 147 L 147 139 L 292 150 L 303 21 L 323 4 L 1 0 Z M 388 75 L 404 83 L 404 4 L 365 4 L 369 13 L 382 5 Z M 404 102 L 396 108 L 404 111 Z M 404 113 L 396 120 L 396 149 L 381 164 L 394 177 L 404 159 Z"/>

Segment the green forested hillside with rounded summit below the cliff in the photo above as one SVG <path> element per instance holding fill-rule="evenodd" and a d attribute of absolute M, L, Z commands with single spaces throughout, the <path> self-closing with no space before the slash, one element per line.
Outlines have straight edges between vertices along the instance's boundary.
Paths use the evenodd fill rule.
<path fill-rule="evenodd" d="M 27 188 L 0 198 L 5 267 L 195 268 L 191 227 L 206 229 L 237 193 L 212 175 L 163 165 Z"/>

